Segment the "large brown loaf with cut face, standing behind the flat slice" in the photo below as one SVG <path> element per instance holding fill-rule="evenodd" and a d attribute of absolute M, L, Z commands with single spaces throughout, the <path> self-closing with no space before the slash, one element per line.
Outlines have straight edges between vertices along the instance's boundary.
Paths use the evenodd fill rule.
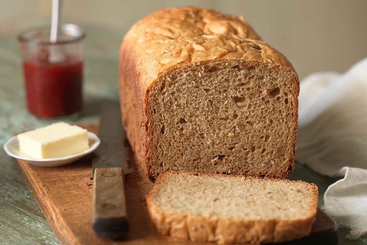
<path fill-rule="evenodd" d="M 294 167 L 299 81 L 243 18 L 153 12 L 120 48 L 122 121 L 150 180 L 168 170 L 286 177 Z"/>

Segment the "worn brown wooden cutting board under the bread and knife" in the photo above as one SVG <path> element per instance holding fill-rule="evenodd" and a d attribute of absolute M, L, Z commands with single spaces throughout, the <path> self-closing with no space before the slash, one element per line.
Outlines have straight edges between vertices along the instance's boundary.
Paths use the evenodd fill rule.
<path fill-rule="evenodd" d="M 82 125 L 82 127 L 94 133 L 98 131 L 98 125 Z M 145 195 L 148 194 L 153 183 L 145 176 L 143 169 L 140 164 L 136 164 L 136 161 L 132 162 L 134 173 L 125 177 L 130 224 L 126 240 L 97 238 L 92 230 L 91 161 L 91 156 L 86 156 L 70 165 L 53 168 L 36 167 L 25 161 L 18 161 L 30 192 L 62 244 L 212 244 L 183 241 L 159 235 L 149 220 L 145 201 Z M 312 234 L 296 243 L 287 244 L 310 244 L 311 242 L 337 244 L 337 241 L 338 233 L 334 221 L 319 209 Z"/>

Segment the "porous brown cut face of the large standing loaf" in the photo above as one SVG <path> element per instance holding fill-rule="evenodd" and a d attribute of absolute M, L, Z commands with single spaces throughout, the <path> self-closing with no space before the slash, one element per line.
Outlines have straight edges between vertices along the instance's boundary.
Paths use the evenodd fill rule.
<path fill-rule="evenodd" d="M 150 89 L 150 174 L 168 170 L 285 177 L 293 167 L 297 83 L 240 60 L 171 69 Z"/>

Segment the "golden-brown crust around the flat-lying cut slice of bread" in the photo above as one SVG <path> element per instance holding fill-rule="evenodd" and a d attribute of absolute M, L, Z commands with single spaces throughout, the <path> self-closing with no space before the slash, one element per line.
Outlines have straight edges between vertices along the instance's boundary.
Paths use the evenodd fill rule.
<path fill-rule="evenodd" d="M 180 213 L 165 213 L 155 205 L 153 195 L 159 190 L 161 181 L 172 175 L 192 175 L 189 172 L 167 172 L 161 174 L 147 195 L 148 213 L 157 230 L 162 235 L 190 239 L 192 241 L 211 241 L 218 244 L 249 243 L 260 244 L 270 242 L 285 242 L 307 236 L 311 232 L 315 221 L 318 203 L 318 189 L 313 183 L 304 181 L 290 181 L 267 179 L 271 181 L 287 181 L 292 183 L 306 183 L 313 192 L 313 212 L 306 219 L 298 220 L 233 220 L 218 219 L 216 217 L 199 217 L 196 215 L 182 215 Z M 195 174 L 196 176 L 215 176 L 216 174 Z M 227 176 L 228 178 L 243 178 L 243 176 Z M 249 177 L 261 179 L 259 177 Z"/>

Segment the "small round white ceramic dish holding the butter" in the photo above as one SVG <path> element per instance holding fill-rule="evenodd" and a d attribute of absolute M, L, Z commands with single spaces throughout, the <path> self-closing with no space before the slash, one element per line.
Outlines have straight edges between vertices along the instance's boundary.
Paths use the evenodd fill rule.
<path fill-rule="evenodd" d="M 34 166 L 58 167 L 75 162 L 76 160 L 82 158 L 83 156 L 95 151 L 98 148 L 99 144 L 101 144 L 101 140 L 99 140 L 98 136 L 89 131 L 88 131 L 88 141 L 89 141 L 89 149 L 80 152 L 79 154 L 59 158 L 36 159 L 23 154 L 21 151 L 19 151 L 19 141 L 17 136 L 11 137 L 10 140 L 8 140 L 4 144 L 4 150 L 9 156 L 21 159 Z"/>

